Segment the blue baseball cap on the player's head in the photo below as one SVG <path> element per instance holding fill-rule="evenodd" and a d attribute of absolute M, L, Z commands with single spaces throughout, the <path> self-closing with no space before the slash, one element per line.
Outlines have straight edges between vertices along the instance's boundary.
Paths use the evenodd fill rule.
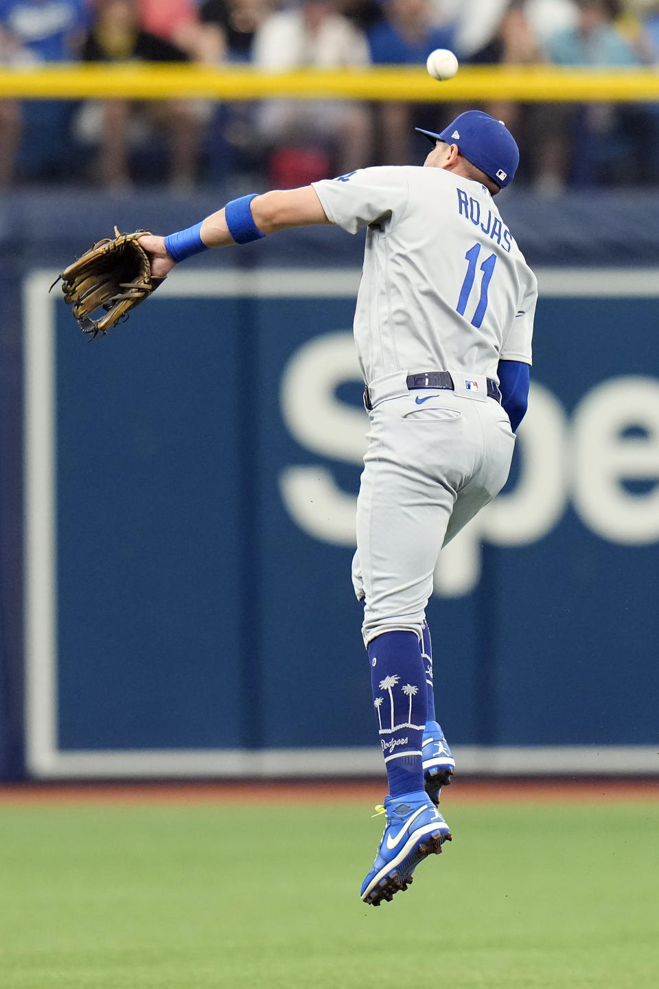
<path fill-rule="evenodd" d="M 481 110 L 467 110 L 460 114 L 441 134 L 433 134 L 420 127 L 414 130 L 425 134 L 433 144 L 436 140 L 457 144 L 460 154 L 489 175 L 501 189 L 515 177 L 520 163 L 520 149 L 515 137 L 503 121 L 495 120 Z"/>

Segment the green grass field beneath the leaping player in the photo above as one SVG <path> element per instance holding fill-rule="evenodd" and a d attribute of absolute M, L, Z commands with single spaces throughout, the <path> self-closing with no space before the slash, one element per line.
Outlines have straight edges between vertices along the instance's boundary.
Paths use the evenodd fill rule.
<path fill-rule="evenodd" d="M 378 908 L 370 806 L 0 805 L 0 987 L 657 989 L 659 803 L 443 804 Z"/>

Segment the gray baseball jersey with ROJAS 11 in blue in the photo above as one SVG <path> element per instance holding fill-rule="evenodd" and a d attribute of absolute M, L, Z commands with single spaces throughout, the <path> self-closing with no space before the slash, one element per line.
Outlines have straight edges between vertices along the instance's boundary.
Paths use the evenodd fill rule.
<path fill-rule="evenodd" d="M 497 376 L 532 363 L 537 286 L 490 193 L 442 168 L 314 182 L 328 220 L 368 226 L 355 338 L 368 384 L 405 369 Z"/>

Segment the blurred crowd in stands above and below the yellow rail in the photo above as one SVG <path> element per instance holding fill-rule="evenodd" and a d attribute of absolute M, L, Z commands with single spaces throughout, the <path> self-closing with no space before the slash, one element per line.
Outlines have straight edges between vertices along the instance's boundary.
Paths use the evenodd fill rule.
<path fill-rule="evenodd" d="M 659 64 L 659 0 L 0 0 L 0 63 L 232 62 L 264 70 L 464 64 Z M 566 186 L 659 183 L 659 104 L 486 105 L 522 146 L 521 179 Z M 283 99 L 0 99 L 0 187 L 69 177 L 181 192 L 227 180 L 301 185 L 368 164 L 423 160 L 413 127 L 445 104 Z M 420 138 L 421 140 L 421 138 Z"/>

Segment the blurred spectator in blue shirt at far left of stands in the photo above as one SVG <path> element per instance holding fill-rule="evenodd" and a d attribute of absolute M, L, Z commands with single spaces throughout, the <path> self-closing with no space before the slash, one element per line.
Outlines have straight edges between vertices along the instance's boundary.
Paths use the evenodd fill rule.
<path fill-rule="evenodd" d="M 83 0 L 0 0 L 0 58 L 5 64 L 75 58 L 88 24 Z M 29 163 L 50 166 L 64 158 L 72 109 L 61 101 L 0 101 L 0 187 L 14 181 L 24 131 Z"/>

